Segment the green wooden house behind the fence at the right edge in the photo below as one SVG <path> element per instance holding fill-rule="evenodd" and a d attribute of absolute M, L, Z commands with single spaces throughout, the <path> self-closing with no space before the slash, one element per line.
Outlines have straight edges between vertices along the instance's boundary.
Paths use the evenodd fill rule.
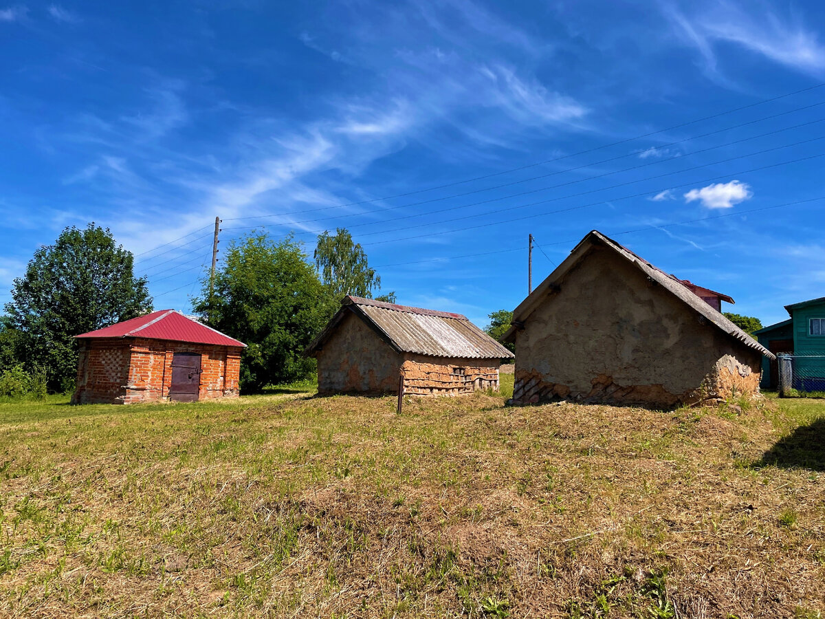
<path fill-rule="evenodd" d="M 759 343 L 774 354 L 793 354 L 796 389 L 825 390 L 825 297 L 785 305 L 790 319 L 755 331 Z M 805 358 L 810 357 L 810 358 Z M 776 361 L 762 360 L 763 389 L 776 389 Z"/>

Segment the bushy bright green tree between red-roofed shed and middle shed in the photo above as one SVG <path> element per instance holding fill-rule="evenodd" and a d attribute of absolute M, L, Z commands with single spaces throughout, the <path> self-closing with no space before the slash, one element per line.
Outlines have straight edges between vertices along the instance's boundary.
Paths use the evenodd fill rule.
<path fill-rule="evenodd" d="M 304 357 L 304 348 L 323 328 L 330 305 L 302 244 L 253 232 L 229 244 L 212 302 L 206 279 L 195 311 L 247 344 L 240 381 L 249 393 L 309 376 L 315 360 Z"/>

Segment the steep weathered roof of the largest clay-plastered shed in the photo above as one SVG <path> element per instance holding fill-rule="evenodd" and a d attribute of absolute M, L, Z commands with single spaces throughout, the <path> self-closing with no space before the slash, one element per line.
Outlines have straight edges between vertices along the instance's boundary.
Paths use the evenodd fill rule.
<path fill-rule="evenodd" d="M 587 249 L 591 248 L 593 245 L 600 245 L 601 247 L 609 248 L 616 254 L 617 257 L 622 258 L 634 265 L 634 267 L 639 268 L 639 270 L 643 272 L 644 275 L 648 276 L 650 280 L 657 282 L 664 290 L 675 296 L 678 300 L 681 300 L 681 302 L 688 308 L 696 314 L 699 314 L 702 318 L 707 319 L 710 324 L 713 324 L 716 328 L 719 328 L 720 331 L 729 337 L 738 340 L 747 347 L 761 352 L 766 357 L 771 359 L 775 358 L 774 354 L 766 347 L 762 346 L 754 338 L 742 331 L 741 328 L 738 328 L 721 313 L 710 307 L 710 305 L 701 300 L 700 297 L 691 292 L 691 290 L 685 286 L 681 280 L 674 276 L 668 275 L 657 267 L 654 267 L 650 262 L 644 260 L 643 258 L 639 258 L 639 256 L 631 252 L 628 248 L 616 243 L 613 239 L 606 237 L 598 230 L 592 230 L 592 232 L 588 233 L 587 236 L 585 236 L 584 239 L 582 239 L 576 247 L 573 248 L 573 251 L 570 252 L 568 258 L 565 258 L 559 267 L 557 267 L 554 272 L 550 273 L 547 279 L 542 281 L 540 285 L 535 288 L 532 294 L 528 295 L 525 300 L 521 301 L 521 304 L 516 307 L 516 310 L 513 312 L 513 326 L 509 328 L 507 333 L 502 336 L 503 342 L 509 342 L 512 341 L 512 338 L 515 338 L 517 325 L 519 323 L 523 323 L 527 317 L 540 306 L 541 302 L 547 298 L 549 291 L 559 286 L 559 283 L 563 280 L 564 276 L 567 275 L 570 269 L 572 269 L 573 266 L 575 266 L 577 262 L 585 256 Z"/>

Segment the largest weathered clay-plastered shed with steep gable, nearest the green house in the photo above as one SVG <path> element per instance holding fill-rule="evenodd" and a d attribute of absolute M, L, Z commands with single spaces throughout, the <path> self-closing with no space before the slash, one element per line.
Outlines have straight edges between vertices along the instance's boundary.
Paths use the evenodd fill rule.
<path fill-rule="evenodd" d="M 587 234 L 502 338 L 516 343 L 513 400 L 672 406 L 758 392 L 773 354 L 691 286 Z"/>

